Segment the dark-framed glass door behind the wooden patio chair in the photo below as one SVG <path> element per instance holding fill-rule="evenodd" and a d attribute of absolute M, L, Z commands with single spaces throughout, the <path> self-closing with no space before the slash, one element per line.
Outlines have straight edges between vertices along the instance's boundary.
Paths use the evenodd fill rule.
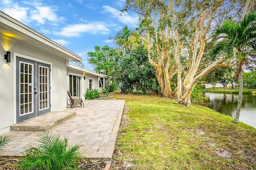
<path fill-rule="evenodd" d="M 69 92 L 72 96 L 80 97 L 80 80 L 79 76 L 69 75 Z"/>

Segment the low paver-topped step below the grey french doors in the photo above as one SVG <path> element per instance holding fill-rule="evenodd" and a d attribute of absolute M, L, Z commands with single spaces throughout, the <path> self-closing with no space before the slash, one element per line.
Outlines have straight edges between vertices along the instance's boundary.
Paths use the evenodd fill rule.
<path fill-rule="evenodd" d="M 10 131 L 46 132 L 75 115 L 76 112 L 70 110 L 49 112 L 12 125 Z"/>

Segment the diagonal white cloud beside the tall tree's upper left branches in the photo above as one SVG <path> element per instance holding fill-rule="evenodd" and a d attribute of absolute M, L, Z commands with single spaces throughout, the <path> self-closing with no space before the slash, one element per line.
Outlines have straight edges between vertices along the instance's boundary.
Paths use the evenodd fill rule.
<path fill-rule="evenodd" d="M 113 8 L 111 6 L 105 5 L 103 6 L 104 8 L 104 13 L 111 14 L 113 18 L 117 18 L 119 22 L 122 22 L 128 26 L 136 27 L 138 24 L 138 15 L 128 15 L 127 12 L 124 12 L 122 16 L 120 15 L 121 12 L 117 10 L 116 8 Z"/>

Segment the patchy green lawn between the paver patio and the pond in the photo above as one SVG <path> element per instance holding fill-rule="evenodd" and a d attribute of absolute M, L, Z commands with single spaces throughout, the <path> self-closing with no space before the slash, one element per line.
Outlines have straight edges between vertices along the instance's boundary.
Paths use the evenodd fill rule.
<path fill-rule="evenodd" d="M 131 169 L 256 169 L 255 128 L 200 105 L 138 95 L 114 98 L 126 100 L 130 124 L 121 130 L 120 154 L 113 159 L 130 162 Z"/>

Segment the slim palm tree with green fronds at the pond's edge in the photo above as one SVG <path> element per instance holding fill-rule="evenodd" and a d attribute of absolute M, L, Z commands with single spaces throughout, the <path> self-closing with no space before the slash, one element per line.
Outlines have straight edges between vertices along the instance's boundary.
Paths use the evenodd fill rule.
<path fill-rule="evenodd" d="M 236 59 L 234 78 L 239 78 L 239 95 L 236 116 L 232 122 L 238 123 L 243 95 L 242 73 L 247 61 L 245 51 L 248 48 L 256 50 L 256 12 L 248 14 L 239 23 L 224 21 L 224 24 L 216 29 L 214 36 L 220 34 L 224 40 L 212 48 L 210 55 L 215 57 L 222 51 L 227 59 Z"/>

